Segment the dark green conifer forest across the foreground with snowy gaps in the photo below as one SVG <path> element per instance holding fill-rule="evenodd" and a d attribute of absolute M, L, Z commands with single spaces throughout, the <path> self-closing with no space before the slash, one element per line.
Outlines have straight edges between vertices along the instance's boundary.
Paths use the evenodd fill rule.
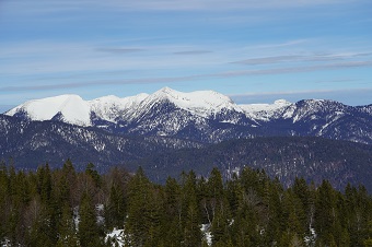
<path fill-rule="evenodd" d="M 0 169 L 0 238 L 9 246 L 372 246 L 372 198 L 363 186 L 335 190 L 295 178 L 290 188 L 244 168 L 223 181 L 194 172 L 158 185 L 139 168 L 100 175 Z M 206 234 L 207 233 L 207 234 Z M 209 235 L 211 239 L 208 238 Z"/>

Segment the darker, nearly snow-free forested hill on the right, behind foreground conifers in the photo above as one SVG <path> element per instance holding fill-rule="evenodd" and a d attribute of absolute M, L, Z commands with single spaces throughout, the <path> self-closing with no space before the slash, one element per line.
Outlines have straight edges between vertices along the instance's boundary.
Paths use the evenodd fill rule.
<path fill-rule="evenodd" d="M 153 179 L 164 180 L 183 169 L 207 175 L 218 167 L 224 178 L 243 167 L 264 169 L 270 177 L 289 186 L 295 177 L 315 184 L 328 179 L 340 189 L 348 183 L 363 184 L 372 191 L 372 146 L 323 138 L 255 138 L 225 141 L 200 149 L 179 150 L 141 160 L 141 165 Z"/>

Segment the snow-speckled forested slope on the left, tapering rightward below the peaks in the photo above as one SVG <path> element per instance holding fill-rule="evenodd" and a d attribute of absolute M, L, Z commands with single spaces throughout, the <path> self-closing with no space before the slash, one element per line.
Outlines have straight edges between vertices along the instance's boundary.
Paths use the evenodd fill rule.
<path fill-rule="evenodd" d="M 100 172 L 114 165 L 200 143 L 162 137 L 127 137 L 96 128 L 58 121 L 28 121 L 0 115 L 0 160 L 18 168 L 35 169 L 48 163 L 60 167 L 67 158 L 77 168 L 94 163 Z"/>

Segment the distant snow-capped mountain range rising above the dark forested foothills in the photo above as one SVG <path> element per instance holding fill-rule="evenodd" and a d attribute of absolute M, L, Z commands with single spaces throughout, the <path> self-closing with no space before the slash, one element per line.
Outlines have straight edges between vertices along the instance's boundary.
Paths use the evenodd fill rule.
<path fill-rule="evenodd" d="M 84 101 L 61 95 L 26 102 L 4 113 L 24 120 L 53 120 L 111 133 L 158 136 L 205 143 L 268 136 L 312 136 L 372 143 L 372 105 L 347 106 L 326 99 L 237 105 L 212 91 Z"/>

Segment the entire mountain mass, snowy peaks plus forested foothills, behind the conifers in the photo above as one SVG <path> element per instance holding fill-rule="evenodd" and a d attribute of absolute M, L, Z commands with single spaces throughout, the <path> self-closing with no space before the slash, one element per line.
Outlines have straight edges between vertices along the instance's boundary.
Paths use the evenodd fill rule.
<path fill-rule="evenodd" d="M 372 105 L 326 99 L 237 105 L 228 96 L 168 87 L 153 94 L 83 101 L 61 95 L 0 115 L 0 158 L 20 169 L 71 158 L 100 172 L 140 165 L 152 180 L 212 166 L 229 178 L 244 166 L 290 185 L 294 177 L 372 191 Z"/>

